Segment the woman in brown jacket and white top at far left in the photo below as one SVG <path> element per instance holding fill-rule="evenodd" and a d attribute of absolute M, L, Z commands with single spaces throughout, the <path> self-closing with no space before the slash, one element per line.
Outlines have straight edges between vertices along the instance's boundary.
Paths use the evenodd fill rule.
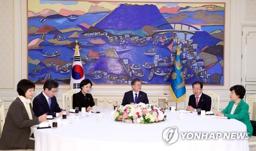
<path fill-rule="evenodd" d="M 35 149 L 32 126 L 46 121 L 47 115 L 35 117 L 30 100 L 34 91 L 35 84 L 31 80 L 22 79 L 18 82 L 18 97 L 11 103 L 7 112 L 0 149 Z"/>

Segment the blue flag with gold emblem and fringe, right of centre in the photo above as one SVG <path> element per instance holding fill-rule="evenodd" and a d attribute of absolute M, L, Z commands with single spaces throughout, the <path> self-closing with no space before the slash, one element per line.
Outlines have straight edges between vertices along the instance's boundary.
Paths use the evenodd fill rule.
<path fill-rule="evenodd" d="M 183 101 L 186 98 L 186 87 L 183 76 L 179 45 L 180 42 L 178 42 L 172 77 L 170 78 L 170 93 L 172 94 L 176 103 Z"/>

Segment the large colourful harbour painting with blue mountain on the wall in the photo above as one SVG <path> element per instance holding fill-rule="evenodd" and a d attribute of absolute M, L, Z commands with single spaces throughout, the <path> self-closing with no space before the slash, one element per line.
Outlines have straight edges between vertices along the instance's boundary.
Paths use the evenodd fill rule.
<path fill-rule="evenodd" d="M 185 83 L 223 85 L 225 3 L 28 0 L 28 78 L 69 84 L 78 40 L 97 84 L 169 84 L 178 41 Z"/>

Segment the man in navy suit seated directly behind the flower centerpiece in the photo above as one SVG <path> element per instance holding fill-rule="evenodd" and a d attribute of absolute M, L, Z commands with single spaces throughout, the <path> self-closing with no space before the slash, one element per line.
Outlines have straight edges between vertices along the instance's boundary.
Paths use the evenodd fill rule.
<path fill-rule="evenodd" d="M 140 91 L 141 90 L 140 79 L 138 78 L 133 79 L 131 85 L 133 90 L 124 93 L 122 105 L 131 104 L 131 103 L 138 104 L 140 102 L 148 104 L 146 93 Z"/>

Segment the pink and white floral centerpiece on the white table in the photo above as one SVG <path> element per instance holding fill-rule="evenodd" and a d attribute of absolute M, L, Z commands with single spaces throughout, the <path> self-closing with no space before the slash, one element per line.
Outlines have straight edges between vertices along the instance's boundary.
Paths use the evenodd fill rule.
<path fill-rule="evenodd" d="M 117 107 L 115 110 L 115 121 L 124 121 L 127 123 L 153 123 L 165 121 L 166 115 L 164 109 L 152 104 L 126 104 Z"/>

